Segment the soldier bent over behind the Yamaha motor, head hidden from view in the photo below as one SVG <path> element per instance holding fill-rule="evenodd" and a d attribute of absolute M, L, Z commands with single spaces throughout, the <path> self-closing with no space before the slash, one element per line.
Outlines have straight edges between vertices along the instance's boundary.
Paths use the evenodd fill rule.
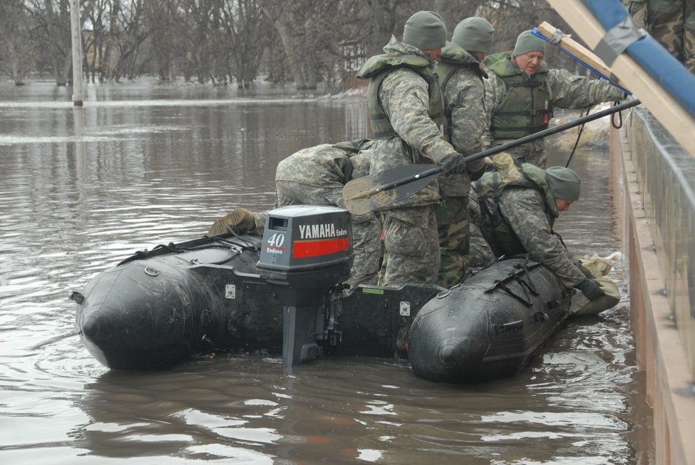
<path fill-rule="evenodd" d="M 302 149 L 278 163 L 275 208 L 287 205 L 333 205 L 345 208 L 343 187 L 351 179 L 369 174 L 372 140 L 321 144 Z M 223 234 L 227 226 L 263 234 L 267 213 L 239 208 L 218 219 L 209 234 Z M 376 285 L 381 259 L 381 221 L 374 212 L 352 215 L 355 258 L 351 286 Z"/>

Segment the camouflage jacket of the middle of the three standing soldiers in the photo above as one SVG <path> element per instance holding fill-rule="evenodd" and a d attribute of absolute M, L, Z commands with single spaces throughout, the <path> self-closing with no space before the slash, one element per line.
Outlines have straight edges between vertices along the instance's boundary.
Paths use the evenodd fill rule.
<path fill-rule="evenodd" d="M 488 76 L 481 63 L 452 42 L 442 49 L 436 74 L 445 103 L 445 138 L 456 152 L 465 156 L 486 149 L 485 85 Z M 465 174 L 447 174 L 439 178 L 442 197 L 467 197 L 470 174 L 485 169 L 484 159 L 466 165 Z"/>

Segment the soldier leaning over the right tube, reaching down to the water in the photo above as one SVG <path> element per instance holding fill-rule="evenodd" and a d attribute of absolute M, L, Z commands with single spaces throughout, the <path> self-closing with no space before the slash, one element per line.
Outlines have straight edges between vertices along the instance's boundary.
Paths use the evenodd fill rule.
<path fill-rule="evenodd" d="M 561 211 L 580 197 L 581 180 L 569 168 L 542 170 L 522 164 L 521 176 L 500 181 L 488 172 L 472 184 L 470 216 L 496 257 L 528 254 L 543 263 L 567 287 L 582 291 L 593 300 L 604 294 L 589 270 L 568 252 L 552 231 Z"/>

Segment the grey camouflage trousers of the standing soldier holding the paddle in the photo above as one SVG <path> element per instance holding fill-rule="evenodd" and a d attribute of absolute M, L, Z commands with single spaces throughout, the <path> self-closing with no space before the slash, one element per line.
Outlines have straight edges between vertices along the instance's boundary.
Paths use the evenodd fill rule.
<path fill-rule="evenodd" d="M 412 206 L 382 212 L 388 252 L 385 286 L 435 284 L 440 252 L 435 206 Z"/>

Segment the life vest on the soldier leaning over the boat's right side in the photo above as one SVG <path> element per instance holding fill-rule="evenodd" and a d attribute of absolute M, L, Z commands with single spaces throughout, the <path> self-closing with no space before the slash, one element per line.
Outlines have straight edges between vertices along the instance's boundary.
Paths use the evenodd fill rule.
<path fill-rule="evenodd" d="M 525 254 L 527 250 L 522 245 L 516 233 L 500 213 L 500 194 L 506 188 L 535 189 L 545 200 L 543 209 L 548 216 L 550 227 L 558 217 L 559 211 L 555 197 L 550 192 L 545 170 L 530 163 L 522 163 L 521 176 L 511 182 L 500 181 L 498 172 L 487 172 L 475 182 L 477 203 L 480 207 L 480 218 L 472 218 L 479 225 L 495 256 L 511 256 Z"/>

